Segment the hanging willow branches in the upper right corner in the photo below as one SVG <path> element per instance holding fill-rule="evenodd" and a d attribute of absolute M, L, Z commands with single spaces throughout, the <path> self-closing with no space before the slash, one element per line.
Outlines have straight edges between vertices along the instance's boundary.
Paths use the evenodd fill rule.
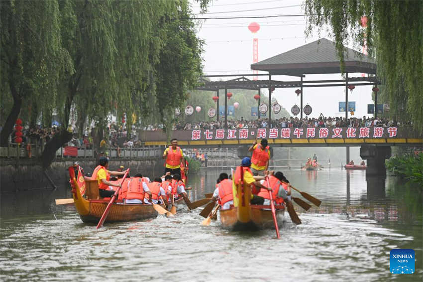
<path fill-rule="evenodd" d="M 327 25 L 343 63 L 343 45 L 353 40 L 375 56 L 377 75 L 385 87 L 380 92 L 391 111 L 423 128 L 423 1 L 415 0 L 305 0 L 307 34 Z M 367 16 L 367 27 L 360 21 Z M 364 33 L 366 36 L 364 36 Z M 402 101 L 406 97 L 406 107 Z"/>

